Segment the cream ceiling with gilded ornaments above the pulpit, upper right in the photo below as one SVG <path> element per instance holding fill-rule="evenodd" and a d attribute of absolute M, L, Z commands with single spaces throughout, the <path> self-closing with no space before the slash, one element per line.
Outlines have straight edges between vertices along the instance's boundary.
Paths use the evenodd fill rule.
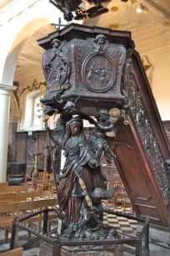
<path fill-rule="evenodd" d="M 143 4 L 142 13 L 137 13 L 137 3 Z M 151 22 L 170 26 L 169 0 L 129 0 L 128 3 L 112 0 L 104 6 L 108 8 L 108 13 L 88 19 L 85 23 L 121 30 L 132 30 Z"/>

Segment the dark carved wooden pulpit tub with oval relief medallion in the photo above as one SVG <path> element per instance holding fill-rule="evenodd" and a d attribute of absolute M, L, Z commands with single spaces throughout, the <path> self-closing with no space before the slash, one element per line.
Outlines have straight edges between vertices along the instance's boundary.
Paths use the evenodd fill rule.
<path fill-rule="evenodd" d="M 51 46 L 42 57 L 47 82 L 47 95 L 42 103 L 60 110 L 68 99 L 79 97 L 82 105 L 87 100 L 94 112 L 102 105 L 107 107 L 106 100 L 108 106 L 111 102 L 112 106 L 115 102 L 123 105 L 124 45 L 110 42 L 102 33 L 84 32 L 81 38 L 72 38 L 69 33 L 67 36 L 67 31 L 63 34 L 63 38 L 50 39 Z M 41 39 L 39 41 L 41 45 Z M 98 99 L 100 104 L 97 104 Z"/>

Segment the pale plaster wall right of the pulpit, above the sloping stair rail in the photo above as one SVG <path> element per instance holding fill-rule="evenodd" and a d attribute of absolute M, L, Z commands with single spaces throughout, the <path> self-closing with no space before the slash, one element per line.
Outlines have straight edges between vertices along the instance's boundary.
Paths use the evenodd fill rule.
<path fill-rule="evenodd" d="M 162 120 L 170 120 L 170 28 L 153 23 L 132 33 L 136 49 L 153 65 L 153 96 Z"/>

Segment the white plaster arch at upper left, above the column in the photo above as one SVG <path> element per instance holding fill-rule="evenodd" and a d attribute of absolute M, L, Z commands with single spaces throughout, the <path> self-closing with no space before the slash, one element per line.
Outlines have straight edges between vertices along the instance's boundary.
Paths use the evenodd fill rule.
<path fill-rule="evenodd" d="M 47 0 L 13 1 L 11 7 L 2 11 L 0 84 L 12 85 L 18 54 L 27 38 L 43 25 L 57 23 L 62 13 Z"/>

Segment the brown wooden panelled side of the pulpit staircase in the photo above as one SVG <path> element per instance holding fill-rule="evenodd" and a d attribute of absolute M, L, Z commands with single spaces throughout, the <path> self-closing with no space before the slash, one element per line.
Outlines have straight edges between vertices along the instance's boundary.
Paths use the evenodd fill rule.
<path fill-rule="evenodd" d="M 122 182 L 138 215 L 149 216 L 152 223 L 168 226 L 168 212 L 153 177 L 138 131 L 133 125 L 118 124 L 117 140 L 112 146 Z"/>

